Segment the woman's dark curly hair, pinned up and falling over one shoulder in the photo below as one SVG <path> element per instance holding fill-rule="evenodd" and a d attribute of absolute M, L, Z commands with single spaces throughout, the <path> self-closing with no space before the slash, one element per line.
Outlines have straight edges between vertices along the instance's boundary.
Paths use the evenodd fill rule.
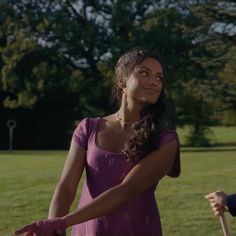
<path fill-rule="evenodd" d="M 112 91 L 113 99 L 119 102 L 122 97 L 122 89 L 118 85 L 120 82 L 125 83 L 132 73 L 133 69 L 146 58 L 156 59 L 164 67 L 160 57 L 153 52 L 142 48 L 134 48 L 123 54 L 115 67 L 115 83 Z M 165 76 L 165 73 L 164 73 Z M 128 159 L 135 157 L 144 157 L 145 154 L 158 148 L 159 134 L 162 128 L 163 117 L 166 111 L 164 84 L 160 96 L 155 104 L 146 106 L 141 111 L 142 120 L 136 123 L 133 128 L 133 134 L 127 140 L 123 153 Z"/>

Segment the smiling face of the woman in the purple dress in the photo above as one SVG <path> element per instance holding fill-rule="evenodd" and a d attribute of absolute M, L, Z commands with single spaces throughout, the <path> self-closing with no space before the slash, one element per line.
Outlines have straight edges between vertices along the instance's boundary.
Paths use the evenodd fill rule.
<path fill-rule="evenodd" d="M 146 58 L 130 74 L 123 88 L 127 99 L 144 105 L 157 102 L 162 90 L 163 70 L 154 58 Z"/>

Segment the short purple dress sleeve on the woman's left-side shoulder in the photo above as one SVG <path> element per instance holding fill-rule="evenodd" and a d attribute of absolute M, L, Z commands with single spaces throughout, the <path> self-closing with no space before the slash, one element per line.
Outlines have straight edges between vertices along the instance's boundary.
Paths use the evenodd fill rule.
<path fill-rule="evenodd" d="M 88 142 L 88 118 L 84 118 L 80 121 L 79 125 L 73 132 L 72 139 L 84 150 L 87 151 Z"/>

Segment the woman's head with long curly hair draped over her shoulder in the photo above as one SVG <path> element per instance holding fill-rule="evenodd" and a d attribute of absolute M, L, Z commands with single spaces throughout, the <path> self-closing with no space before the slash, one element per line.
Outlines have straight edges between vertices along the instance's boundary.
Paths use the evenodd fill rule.
<path fill-rule="evenodd" d="M 139 120 L 132 125 L 135 131 L 123 151 L 131 156 L 150 152 L 155 148 L 153 140 L 158 140 L 163 129 L 165 114 L 164 69 L 159 56 L 139 48 L 122 55 L 115 68 L 113 97 L 121 103 L 118 115 L 129 116 L 124 110 L 131 109 L 137 112 Z M 119 118 L 127 126 L 130 118 L 121 115 Z"/>

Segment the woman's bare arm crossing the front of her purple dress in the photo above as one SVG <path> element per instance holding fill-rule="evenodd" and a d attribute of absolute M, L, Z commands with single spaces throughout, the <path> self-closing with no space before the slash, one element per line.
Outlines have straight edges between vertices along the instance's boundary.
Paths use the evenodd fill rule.
<path fill-rule="evenodd" d="M 174 140 L 147 155 L 132 168 L 121 184 L 108 189 L 86 206 L 64 216 L 67 226 L 110 213 L 158 182 L 172 168 L 177 148 L 177 141 Z"/>

